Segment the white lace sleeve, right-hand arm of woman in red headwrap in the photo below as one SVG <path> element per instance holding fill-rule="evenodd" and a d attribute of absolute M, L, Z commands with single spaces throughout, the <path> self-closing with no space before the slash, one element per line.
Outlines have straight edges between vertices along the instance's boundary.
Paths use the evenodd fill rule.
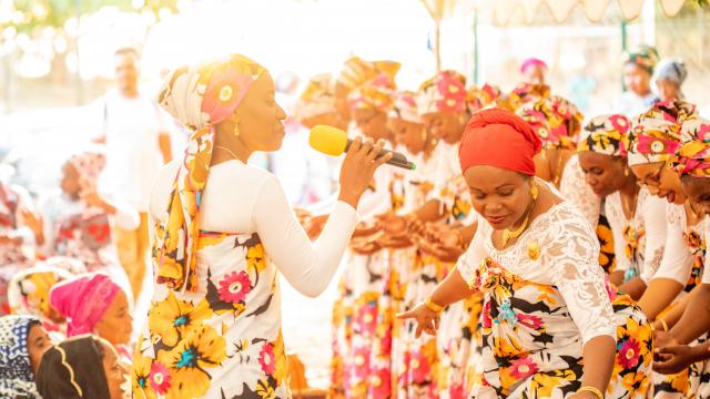
<path fill-rule="evenodd" d="M 549 234 L 542 265 L 549 270 L 569 314 L 580 330 L 582 342 L 594 337 L 615 337 L 617 324 L 599 266 L 599 243 L 589 224 L 572 207 L 559 205 L 552 217 L 541 221 Z"/>

